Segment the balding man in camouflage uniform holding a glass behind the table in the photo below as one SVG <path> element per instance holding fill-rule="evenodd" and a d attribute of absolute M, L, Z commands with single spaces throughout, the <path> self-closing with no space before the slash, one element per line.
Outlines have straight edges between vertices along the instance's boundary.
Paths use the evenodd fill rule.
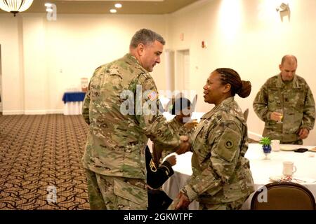
<path fill-rule="evenodd" d="M 315 123 L 314 97 L 296 68 L 296 57 L 285 55 L 281 72 L 269 78 L 254 99 L 254 111 L 265 122 L 263 136 L 281 144 L 303 144 Z"/>

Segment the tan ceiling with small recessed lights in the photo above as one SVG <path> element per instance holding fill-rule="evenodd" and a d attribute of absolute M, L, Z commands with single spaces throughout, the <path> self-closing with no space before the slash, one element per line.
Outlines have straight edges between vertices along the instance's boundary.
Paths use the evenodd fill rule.
<path fill-rule="evenodd" d="M 2 0 L 0 0 L 2 1 Z M 23 13 L 46 13 L 44 3 L 54 3 L 57 13 L 67 14 L 107 14 L 114 3 L 121 3 L 117 14 L 168 14 L 199 0 L 34 0 L 32 6 Z M 0 10 L 0 13 L 6 13 Z"/>

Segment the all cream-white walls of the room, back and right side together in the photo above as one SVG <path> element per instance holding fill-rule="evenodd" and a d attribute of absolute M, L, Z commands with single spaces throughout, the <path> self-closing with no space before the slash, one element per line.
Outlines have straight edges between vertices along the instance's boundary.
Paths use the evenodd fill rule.
<path fill-rule="evenodd" d="M 201 0 L 171 15 L 46 15 L 23 13 L 13 18 L 0 15 L 3 109 L 6 113 L 55 113 L 62 111 L 62 94 L 80 85 L 100 64 L 123 56 L 133 33 L 147 27 L 162 34 L 165 49 L 190 50 L 190 89 L 199 94 L 197 111 L 209 111 L 202 87 L 209 73 L 231 67 L 252 83 L 246 99 L 249 131 L 261 134 L 263 122 L 252 102 L 267 78 L 278 73 L 285 54 L 298 57 L 297 73 L 310 83 L 316 58 L 316 1 L 288 0 L 290 22 L 281 22 L 275 8 L 281 0 Z M 180 34 L 184 40 L 180 41 Z M 207 48 L 201 48 L 206 41 Z M 155 67 L 159 90 L 166 90 L 166 69 Z M 305 144 L 316 145 L 312 131 Z"/>

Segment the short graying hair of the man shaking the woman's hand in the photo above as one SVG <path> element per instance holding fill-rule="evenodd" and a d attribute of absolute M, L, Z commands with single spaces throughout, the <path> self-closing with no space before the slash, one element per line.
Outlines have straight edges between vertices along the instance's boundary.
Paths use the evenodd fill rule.
<path fill-rule="evenodd" d="M 166 41 L 164 38 L 150 29 L 140 29 L 131 38 L 130 48 L 137 48 L 138 44 L 143 43 L 144 45 L 154 43 L 154 41 L 159 41 L 164 45 Z"/>

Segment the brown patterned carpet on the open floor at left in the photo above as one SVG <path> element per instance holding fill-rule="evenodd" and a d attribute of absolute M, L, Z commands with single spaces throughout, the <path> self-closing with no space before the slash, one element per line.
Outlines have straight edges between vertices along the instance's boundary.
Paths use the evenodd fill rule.
<path fill-rule="evenodd" d="M 0 209 L 89 209 L 81 116 L 0 115 Z"/>

